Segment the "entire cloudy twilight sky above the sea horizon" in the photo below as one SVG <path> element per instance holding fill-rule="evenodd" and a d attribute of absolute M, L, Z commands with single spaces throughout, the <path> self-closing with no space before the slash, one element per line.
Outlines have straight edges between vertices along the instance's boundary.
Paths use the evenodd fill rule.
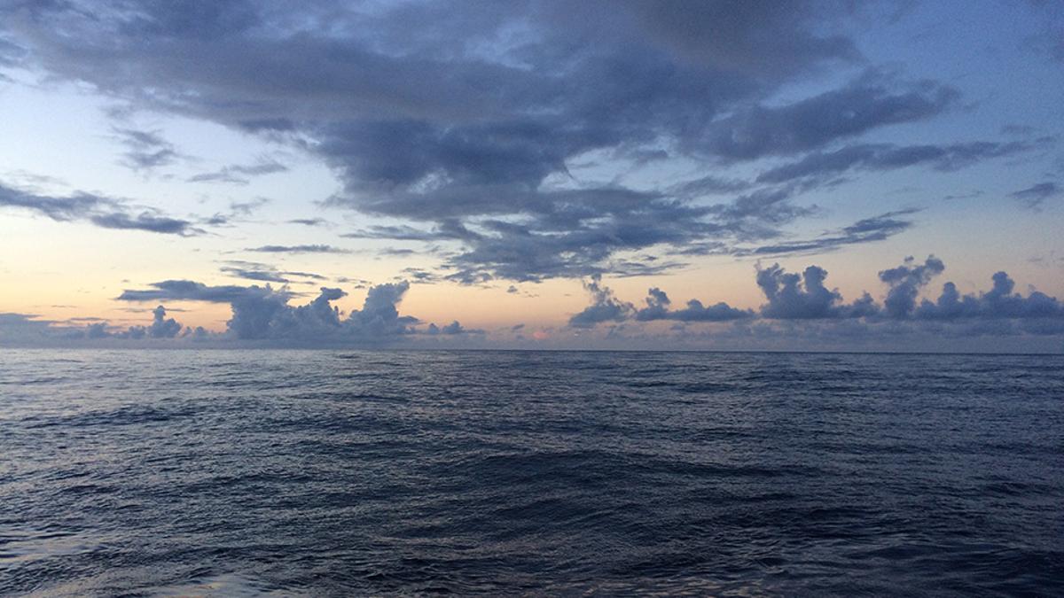
<path fill-rule="evenodd" d="M 0 346 L 1064 352 L 1064 4 L 0 0 Z"/>

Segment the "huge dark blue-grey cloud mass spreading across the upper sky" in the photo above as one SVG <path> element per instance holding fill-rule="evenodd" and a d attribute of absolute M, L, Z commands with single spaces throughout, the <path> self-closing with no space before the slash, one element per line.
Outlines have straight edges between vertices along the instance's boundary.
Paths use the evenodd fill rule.
<path fill-rule="evenodd" d="M 793 189 L 757 189 L 712 171 L 630 189 L 575 181 L 569 165 L 595 151 L 705 168 L 821 151 L 958 103 L 942 83 L 875 68 L 780 102 L 783 85 L 821 67 L 864 65 L 851 39 L 826 33 L 846 31 L 859 11 L 866 9 L 834 1 L 298 10 L 72 1 L 9 5 L 0 30 L 35 68 L 134 109 L 207 119 L 318 155 L 343 182 L 329 205 L 416 225 L 354 235 L 461 246 L 444 265 L 452 280 L 476 283 L 653 273 L 679 263 L 628 254 L 781 237 L 781 227 L 812 211 L 793 201 Z M 238 182 L 279 166 L 234 165 L 195 179 Z M 701 203 L 735 193 L 745 195 Z"/>

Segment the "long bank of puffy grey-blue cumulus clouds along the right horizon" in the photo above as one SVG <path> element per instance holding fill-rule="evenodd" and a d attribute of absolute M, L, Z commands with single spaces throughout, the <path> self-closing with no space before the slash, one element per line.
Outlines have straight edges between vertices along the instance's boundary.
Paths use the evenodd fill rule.
<path fill-rule="evenodd" d="M 1014 281 L 1003 271 L 992 277 L 988 290 L 962 295 L 954 283 L 947 282 L 937 299 L 921 299 L 929 281 L 944 270 L 945 264 L 933 255 L 922 262 L 907 258 L 879 272 L 886 285 L 880 303 L 868 293 L 846 302 L 826 284 L 828 272 L 819 266 L 808 266 L 800 273 L 787 272 L 778 264 L 759 267 L 757 282 L 767 302 L 757 312 L 724 302 L 705 306 L 698 300 L 674 310 L 668 295 L 658 287 L 648 292 L 646 306 L 636 309 L 618 299 L 600 279 L 592 279 L 585 283 L 592 304 L 572 316 L 570 326 L 593 329 L 608 322 L 613 326 L 603 340 L 658 347 L 709 343 L 747 349 L 999 350 L 1008 346 L 1017 350 L 1030 343 L 1038 350 L 1059 350 L 1052 343 L 1064 338 L 1064 302 L 1033 288 L 1027 295 L 1015 293 Z M 637 326 L 654 320 L 678 323 L 664 333 Z M 712 326 L 689 326 L 697 322 Z M 1011 344 L 999 344 L 1005 339 Z"/>

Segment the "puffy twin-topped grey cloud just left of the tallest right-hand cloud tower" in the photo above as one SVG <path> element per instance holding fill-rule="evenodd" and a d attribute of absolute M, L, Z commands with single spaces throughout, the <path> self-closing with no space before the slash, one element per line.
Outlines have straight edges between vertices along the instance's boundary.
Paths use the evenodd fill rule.
<path fill-rule="evenodd" d="M 758 286 L 768 299 L 761 315 L 770 319 L 859 318 L 879 311 L 867 293 L 844 303 L 837 289 L 824 285 L 827 278 L 828 271 L 819 266 L 809 266 L 801 275 L 787 272 L 779 264 L 759 267 Z"/>

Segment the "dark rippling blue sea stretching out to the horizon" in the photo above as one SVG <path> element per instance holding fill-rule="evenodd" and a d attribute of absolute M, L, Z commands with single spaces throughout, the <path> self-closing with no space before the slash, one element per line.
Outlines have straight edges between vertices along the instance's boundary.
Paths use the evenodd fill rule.
<path fill-rule="evenodd" d="M 0 351 L 0 594 L 1064 588 L 1064 359 Z"/>

